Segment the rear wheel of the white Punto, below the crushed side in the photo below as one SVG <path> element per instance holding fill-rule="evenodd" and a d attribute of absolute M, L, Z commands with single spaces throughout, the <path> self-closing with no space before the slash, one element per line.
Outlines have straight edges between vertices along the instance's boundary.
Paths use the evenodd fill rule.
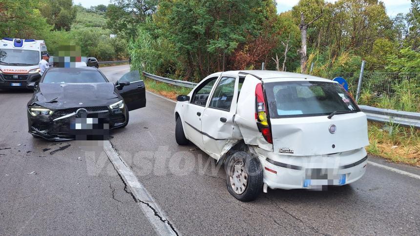
<path fill-rule="evenodd" d="M 225 162 L 226 186 L 240 201 L 255 200 L 263 190 L 263 169 L 258 157 L 236 152 Z"/>

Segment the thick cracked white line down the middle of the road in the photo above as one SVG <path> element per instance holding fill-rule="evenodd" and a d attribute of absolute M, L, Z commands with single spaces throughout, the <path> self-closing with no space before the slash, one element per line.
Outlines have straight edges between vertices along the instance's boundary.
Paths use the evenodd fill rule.
<path fill-rule="evenodd" d="M 154 201 L 153 197 L 149 195 L 143 184 L 137 179 L 124 160 L 115 152 L 110 141 L 104 141 L 104 150 L 109 160 L 114 165 L 115 170 L 117 170 L 126 184 L 126 187 L 129 188 L 143 213 L 153 225 L 156 233 L 162 236 L 180 235 L 175 227 L 169 222 L 165 212 L 160 209 L 159 205 Z"/>

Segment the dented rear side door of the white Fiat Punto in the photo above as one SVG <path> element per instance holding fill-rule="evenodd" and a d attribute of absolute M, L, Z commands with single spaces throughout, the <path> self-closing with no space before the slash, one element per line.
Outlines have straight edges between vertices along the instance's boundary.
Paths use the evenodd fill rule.
<path fill-rule="evenodd" d="M 240 138 L 239 127 L 234 124 L 238 85 L 237 73 L 223 73 L 202 115 L 203 147 L 216 159 L 223 154 L 229 139 Z"/>

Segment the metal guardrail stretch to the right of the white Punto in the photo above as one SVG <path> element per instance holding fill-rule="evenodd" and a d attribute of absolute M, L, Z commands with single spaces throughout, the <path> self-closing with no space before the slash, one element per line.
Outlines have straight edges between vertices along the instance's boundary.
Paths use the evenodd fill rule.
<path fill-rule="evenodd" d="M 382 109 L 372 106 L 359 105 L 367 119 L 380 123 L 394 123 L 404 127 L 420 129 L 420 113 Z"/>

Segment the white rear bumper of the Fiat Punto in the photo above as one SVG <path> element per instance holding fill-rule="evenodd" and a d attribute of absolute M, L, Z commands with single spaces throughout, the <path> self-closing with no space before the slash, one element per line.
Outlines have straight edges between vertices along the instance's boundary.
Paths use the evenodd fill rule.
<path fill-rule="evenodd" d="M 364 148 L 310 157 L 276 155 L 260 150 L 258 157 L 264 169 L 264 183 L 272 189 L 318 189 L 323 185 L 350 184 L 364 175 L 367 164 Z M 311 176 L 317 171 L 323 175 Z"/>

